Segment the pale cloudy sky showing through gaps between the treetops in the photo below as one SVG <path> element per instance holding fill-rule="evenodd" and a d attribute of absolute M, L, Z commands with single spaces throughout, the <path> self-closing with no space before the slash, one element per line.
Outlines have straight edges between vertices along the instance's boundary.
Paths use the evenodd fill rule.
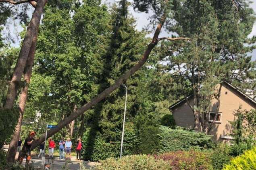
<path fill-rule="evenodd" d="M 116 0 L 103 0 L 103 2 L 111 5 L 112 3 L 114 2 L 117 2 Z M 250 5 L 251 8 L 254 9 L 255 13 L 256 13 L 256 0 L 252 0 L 252 4 Z M 143 28 L 145 28 L 148 23 L 149 23 L 149 20 L 148 20 L 148 17 L 151 15 L 150 13 L 149 14 L 146 14 L 145 12 L 138 12 L 138 11 L 134 11 L 132 7 L 129 8 L 129 12 L 135 17 L 135 19 L 137 20 L 136 22 L 136 29 L 137 30 L 142 30 Z M 30 12 L 30 16 L 32 15 L 32 10 Z M 20 37 L 17 36 L 17 34 L 19 32 L 21 32 L 23 30 L 22 26 L 19 25 L 19 21 L 18 20 L 13 20 L 12 18 L 8 19 L 7 20 L 8 22 L 8 27 L 4 28 L 4 30 L 2 31 L 4 35 L 7 35 L 10 34 L 12 36 L 12 39 L 14 40 L 14 42 L 11 42 L 11 46 L 12 47 L 18 47 L 19 44 L 20 44 Z M 252 28 L 252 32 L 251 34 L 248 36 L 249 38 L 251 38 L 252 36 L 256 36 L 256 22 L 254 23 L 254 26 Z M 148 36 L 151 36 L 152 37 L 152 34 L 149 34 Z M 170 34 L 168 34 L 167 32 L 164 32 L 162 31 L 159 35 L 159 37 L 162 37 L 162 36 L 171 36 Z M 256 61 L 256 49 L 249 55 L 252 55 L 252 60 L 253 61 Z"/>

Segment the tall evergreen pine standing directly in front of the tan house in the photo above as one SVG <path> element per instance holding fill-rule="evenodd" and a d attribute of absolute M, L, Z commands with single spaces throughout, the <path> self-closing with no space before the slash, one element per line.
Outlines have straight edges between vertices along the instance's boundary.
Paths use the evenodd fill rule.
<path fill-rule="evenodd" d="M 219 111 L 219 83 L 254 88 L 255 62 L 248 56 L 254 46 L 244 46 L 246 42 L 255 42 L 254 38 L 247 38 L 254 24 L 253 10 L 245 0 L 188 0 L 176 8 L 176 22 L 168 30 L 191 40 L 187 44 L 163 42 L 165 52 L 161 57 L 169 64 L 159 68 L 172 72 L 183 86 L 184 96 L 193 95 L 193 103 L 187 103 L 194 113 L 194 128 L 208 133 L 215 121 L 208 125 L 213 97 L 218 100 L 216 112 Z"/>

